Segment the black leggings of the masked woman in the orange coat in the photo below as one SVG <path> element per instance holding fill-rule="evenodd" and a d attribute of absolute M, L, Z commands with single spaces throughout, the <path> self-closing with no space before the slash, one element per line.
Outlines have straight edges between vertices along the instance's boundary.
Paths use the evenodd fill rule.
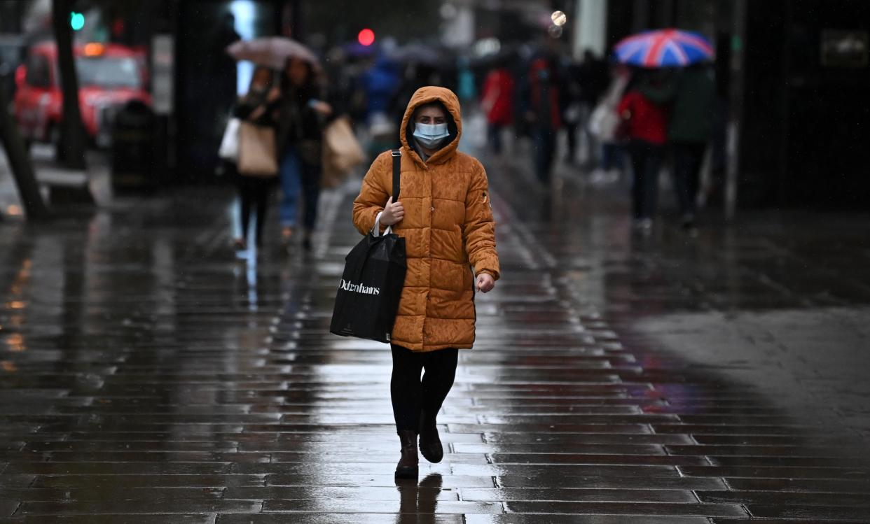
<path fill-rule="evenodd" d="M 396 430 L 417 431 L 420 411 L 435 415 L 453 387 L 459 351 L 438 349 L 425 353 L 392 346 L 392 380 L 390 395 Z M 423 380 L 420 372 L 425 369 Z"/>

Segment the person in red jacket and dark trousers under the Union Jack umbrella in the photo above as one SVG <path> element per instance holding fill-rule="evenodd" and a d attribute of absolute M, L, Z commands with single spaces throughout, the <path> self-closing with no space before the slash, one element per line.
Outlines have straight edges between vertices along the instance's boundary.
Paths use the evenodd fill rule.
<path fill-rule="evenodd" d="M 659 72 L 643 72 L 638 87 L 629 89 L 617 108 L 628 136 L 632 157 L 632 211 L 634 226 L 648 232 L 653 228 L 659 169 L 665 158 L 667 112 L 664 106 L 644 96 L 643 88 L 660 87 Z"/>

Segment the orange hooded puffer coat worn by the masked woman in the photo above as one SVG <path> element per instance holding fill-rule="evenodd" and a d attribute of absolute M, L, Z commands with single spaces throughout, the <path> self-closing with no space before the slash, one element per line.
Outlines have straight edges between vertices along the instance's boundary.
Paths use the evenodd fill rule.
<path fill-rule="evenodd" d="M 418 106 L 438 101 L 456 123 L 456 136 L 424 162 L 408 144 L 406 129 Z M 393 344 L 413 351 L 471 348 L 474 343 L 474 272 L 499 279 L 495 222 L 486 172 L 458 152 L 462 135 L 459 101 L 451 90 L 417 90 L 405 109 L 401 189 L 405 218 L 393 231 L 405 237 L 408 271 L 392 329 Z M 392 158 L 385 151 L 371 164 L 353 202 L 353 223 L 368 234 L 392 194 Z"/>

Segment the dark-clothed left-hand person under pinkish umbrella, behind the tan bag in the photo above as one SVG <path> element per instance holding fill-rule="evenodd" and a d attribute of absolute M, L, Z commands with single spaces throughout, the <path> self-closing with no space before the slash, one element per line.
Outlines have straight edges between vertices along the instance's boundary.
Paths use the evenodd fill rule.
<path fill-rule="evenodd" d="M 251 76 L 251 85 L 247 94 L 239 97 L 233 108 L 233 116 L 244 122 L 258 126 L 274 127 L 274 110 L 281 96 L 277 87 L 272 85 L 272 70 L 258 66 Z M 263 241 L 263 225 L 266 211 L 269 207 L 269 192 L 272 179 L 263 176 L 236 174 L 240 209 L 238 214 L 239 227 L 242 235 L 235 240 L 238 250 L 248 247 L 248 229 L 251 221 L 251 211 L 255 211 L 254 242 L 259 247 Z"/>

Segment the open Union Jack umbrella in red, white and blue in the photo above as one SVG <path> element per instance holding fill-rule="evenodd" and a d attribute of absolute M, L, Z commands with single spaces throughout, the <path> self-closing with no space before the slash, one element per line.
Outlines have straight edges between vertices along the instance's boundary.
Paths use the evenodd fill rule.
<path fill-rule="evenodd" d="M 646 68 L 685 67 L 713 58 L 713 45 L 704 36 L 675 29 L 628 36 L 613 50 L 617 62 Z"/>

